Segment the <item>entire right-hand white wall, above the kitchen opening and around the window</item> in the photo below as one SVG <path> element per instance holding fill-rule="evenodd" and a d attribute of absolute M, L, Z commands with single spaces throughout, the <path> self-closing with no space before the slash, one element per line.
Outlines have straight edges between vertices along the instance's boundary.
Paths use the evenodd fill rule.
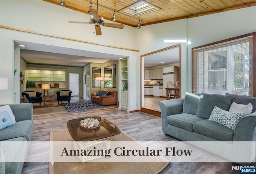
<path fill-rule="evenodd" d="M 241 8 L 196 18 L 188 18 L 149 26 L 136 30 L 137 49 L 140 55 L 156 51 L 176 43 L 164 43 L 165 39 L 187 39 L 182 43 L 182 97 L 191 91 L 191 49 L 235 36 L 256 31 L 256 7 Z M 137 60 L 140 64 L 140 59 Z M 138 70 L 139 72 L 139 70 Z M 184 87 L 185 86 L 185 87 Z"/>

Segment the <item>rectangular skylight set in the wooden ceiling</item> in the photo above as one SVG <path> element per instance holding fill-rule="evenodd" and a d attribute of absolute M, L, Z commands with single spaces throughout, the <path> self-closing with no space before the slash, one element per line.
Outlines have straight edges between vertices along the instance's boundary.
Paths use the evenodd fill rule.
<path fill-rule="evenodd" d="M 135 4 L 132 4 L 131 6 L 124 8 L 123 10 L 120 10 L 120 11 L 130 14 L 132 16 L 138 16 L 138 15 L 152 12 L 155 10 L 159 10 L 159 8 L 152 6 L 148 2 L 141 0 L 139 2 L 136 2 Z"/>

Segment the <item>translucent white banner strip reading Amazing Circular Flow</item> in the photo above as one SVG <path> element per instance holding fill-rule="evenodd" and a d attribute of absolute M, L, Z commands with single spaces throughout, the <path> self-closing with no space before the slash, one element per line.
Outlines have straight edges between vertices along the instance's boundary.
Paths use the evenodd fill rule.
<path fill-rule="evenodd" d="M 30 144 L 29 149 L 27 148 Z M 0 142 L 1 162 L 255 162 L 255 142 Z M 27 154 L 26 159 L 22 156 Z"/>

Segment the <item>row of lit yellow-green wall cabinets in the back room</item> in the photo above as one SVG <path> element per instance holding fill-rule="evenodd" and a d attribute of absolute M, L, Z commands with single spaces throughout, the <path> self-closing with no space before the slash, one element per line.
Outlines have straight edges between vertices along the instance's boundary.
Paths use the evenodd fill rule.
<path fill-rule="evenodd" d="M 66 81 L 66 71 L 28 69 L 28 81 Z"/>

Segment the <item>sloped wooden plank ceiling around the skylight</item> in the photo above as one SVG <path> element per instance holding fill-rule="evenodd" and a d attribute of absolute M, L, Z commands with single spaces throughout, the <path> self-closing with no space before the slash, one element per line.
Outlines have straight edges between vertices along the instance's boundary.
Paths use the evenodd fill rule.
<path fill-rule="evenodd" d="M 44 1 L 59 5 L 61 0 Z M 116 11 L 116 22 L 136 27 L 138 20 L 143 20 L 141 26 L 145 26 L 256 5 L 256 0 L 145 0 L 161 10 L 140 16 L 129 16 L 120 11 L 138 1 L 139 0 L 98 0 L 98 12 L 104 19 L 111 20 L 113 11 Z M 96 9 L 97 0 L 65 0 L 65 8 L 88 14 L 90 2 L 92 2 L 92 7 Z M 76 19 L 74 19 L 74 21 L 75 20 Z M 90 19 L 84 19 L 84 22 L 90 22 Z"/>

